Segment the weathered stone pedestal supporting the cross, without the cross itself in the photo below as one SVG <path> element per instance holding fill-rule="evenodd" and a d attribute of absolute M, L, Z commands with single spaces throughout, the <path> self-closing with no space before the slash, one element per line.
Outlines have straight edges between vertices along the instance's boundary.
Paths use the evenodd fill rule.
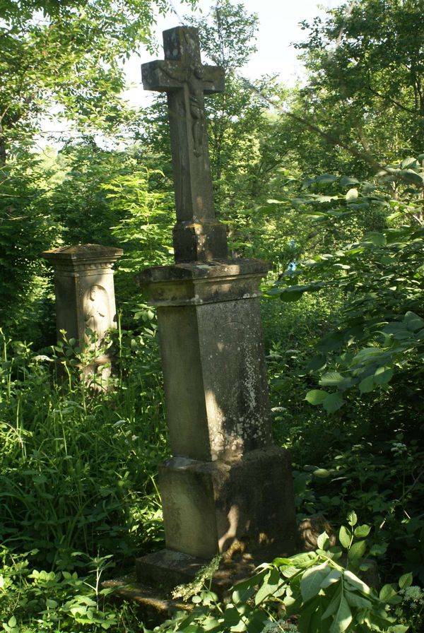
<path fill-rule="evenodd" d="M 272 444 L 259 314 L 269 268 L 208 261 L 139 277 L 158 309 L 173 455 L 159 473 L 168 566 L 175 559 L 178 567 L 175 552 L 186 568 L 193 557 L 194 568 L 235 545 L 294 551 L 293 482 L 287 452 Z M 140 580 L 152 567 L 162 574 L 160 556 L 137 562 Z"/>

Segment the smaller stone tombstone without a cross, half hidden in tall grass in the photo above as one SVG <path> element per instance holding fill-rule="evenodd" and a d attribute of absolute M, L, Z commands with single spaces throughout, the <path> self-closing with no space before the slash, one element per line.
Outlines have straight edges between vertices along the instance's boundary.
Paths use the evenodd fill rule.
<path fill-rule="evenodd" d="M 64 341 L 61 331 L 65 331 L 67 341 L 73 338 L 79 348 L 89 350 L 84 375 L 92 381 L 97 374 L 103 384 L 110 375 L 111 359 L 99 350 L 107 330 L 117 326 L 112 266 L 120 256 L 122 249 L 100 244 L 43 253 L 54 268 L 57 340 Z"/>

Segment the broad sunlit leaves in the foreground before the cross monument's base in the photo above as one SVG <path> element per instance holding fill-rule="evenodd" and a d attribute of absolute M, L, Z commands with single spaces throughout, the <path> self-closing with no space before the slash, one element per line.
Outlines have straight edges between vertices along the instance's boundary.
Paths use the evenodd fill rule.
<path fill-rule="evenodd" d="M 316 552 L 260 565 L 254 576 L 235 585 L 225 605 L 210 590 L 200 592 L 192 599 L 195 606 L 189 615 L 179 613 L 155 632 L 283 631 L 290 618 L 300 633 L 405 633 L 408 626 L 399 624 L 391 610 L 402 603 L 401 591 L 411 586 L 412 574 L 401 576 L 398 586 L 384 585 L 379 593 L 370 588 L 356 575 L 367 569 L 365 538 L 370 526 L 357 523 L 351 511 L 348 527 L 339 531 L 341 547 L 329 547 L 324 532 Z M 283 620 L 277 622 L 278 615 Z M 271 629 L 272 623 L 276 626 Z"/>

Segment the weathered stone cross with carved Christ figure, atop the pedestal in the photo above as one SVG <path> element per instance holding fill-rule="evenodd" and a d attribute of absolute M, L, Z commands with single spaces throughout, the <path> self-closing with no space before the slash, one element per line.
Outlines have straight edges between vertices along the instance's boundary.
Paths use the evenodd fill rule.
<path fill-rule="evenodd" d="M 143 88 L 167 93 L 177 225 L 175 261 L 225 259 L 225 226 L 213 208 L 204 93 L 224 89 L 224 71 L 201 64 L 195 28 L 163 32 L 165 60 L 141 66 Z"/>

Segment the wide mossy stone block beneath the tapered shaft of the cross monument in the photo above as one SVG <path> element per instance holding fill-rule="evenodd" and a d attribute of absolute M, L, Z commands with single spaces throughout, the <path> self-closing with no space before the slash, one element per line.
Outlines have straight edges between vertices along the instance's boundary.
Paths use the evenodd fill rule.
<path fill-rule="evenodd" d="M 293 480 L 277 446 L 227 460 L 173 457 L 159 468 L 167 548 L 210 559 L 232 548 L 294 552 Z"/>

